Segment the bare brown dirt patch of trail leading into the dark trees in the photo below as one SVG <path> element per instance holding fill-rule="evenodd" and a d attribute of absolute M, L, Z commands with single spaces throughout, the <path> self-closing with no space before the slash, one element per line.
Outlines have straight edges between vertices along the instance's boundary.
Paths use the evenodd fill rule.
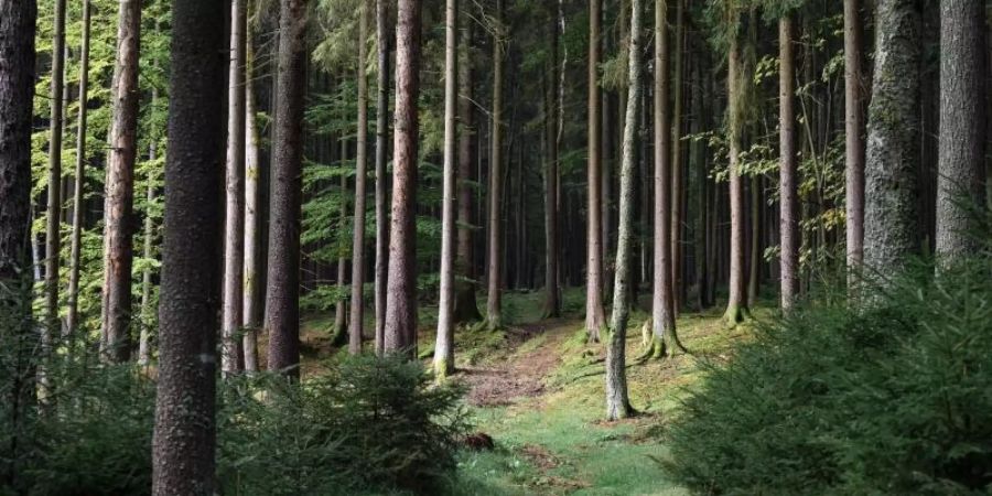
<path fill-rule="evenodd" d="M 498 407 L 543 395 L 544 379 L 559 363 L 558 345 L 574 328 L 572 322 L 542 322 L 514 330 L 504 362 L 462 369 L 462 378 L 471 387 L 468 402 L 477 407 Z M 539 345 L 518 352 L 524 344 L 541 337 L 544 341 Z"/>

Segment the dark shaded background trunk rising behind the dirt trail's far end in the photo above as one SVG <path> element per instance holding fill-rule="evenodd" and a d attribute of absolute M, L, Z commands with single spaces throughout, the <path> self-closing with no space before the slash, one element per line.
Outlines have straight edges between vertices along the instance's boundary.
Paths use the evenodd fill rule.
<path fill-rule="evenodd" d="M 544 319 L 561 316 L 561 284 L 558 277 L 558 22 L 550 31 L 551 61 L 548 71 L 548 91 L 544 96 L 544 130 L 548 151 L 544 169 Z"/>

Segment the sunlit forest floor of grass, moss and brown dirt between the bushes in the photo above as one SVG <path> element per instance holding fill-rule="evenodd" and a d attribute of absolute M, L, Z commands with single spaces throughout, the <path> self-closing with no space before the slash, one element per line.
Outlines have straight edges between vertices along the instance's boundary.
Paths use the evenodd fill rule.
<path fill-rule="evenodd" d="M 583 295 L 567 293 L 564 310 L 578 315 Z M 635 311 L 627 339 L 628 387 L 638 414 L 606 422 L 604 356 L 587 344 L 579 317 L 540 319 L 539 293 L 508 293 L 510 317 L 499 333 L 459 330 L 455 380 L 468 387 L 473 431 L 494 440 L 493 450 L 459 454 L 455 495 L 658 495 L 687 494 L 668 481 L 666 424 L 701 377 L 707 360 L 725 360 L 748 326 L 726 328 L 720 309 L 686 313 L 679 335 L 691 355 L 638 360 L 643 354 Z M 573 312 L 570 312 L 572 310 Z M 757 312 L 761 316 L 762 312 Z M 420 349 L 433 346 L 431 309 L 421 315 Z M 311 330 L 323 320 L 311 322 Z M 315 324 L 315 325 L 314 325 Z M 304 334 L 316 339 L 319 333 Z M 310 341 L 310 339 L 306 339 Z M 314 344 L 313 348 L 324 348 Z M 326 348 L 324 348 L 326 349 Z M 315 354 L 324 355 L 324 353 Z M 304 365 L 304 369 L 306 365 Z"/>

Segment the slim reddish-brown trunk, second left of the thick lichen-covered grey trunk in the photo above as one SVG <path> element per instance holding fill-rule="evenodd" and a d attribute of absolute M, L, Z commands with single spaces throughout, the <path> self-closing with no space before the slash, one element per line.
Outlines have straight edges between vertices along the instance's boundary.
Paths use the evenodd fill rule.
<path fill-rule="evenodd" d="M 792 18 L 778 20 L 778 172 L 781 255 L 781 311 L 788 313 L 799 298 L 799 172 L 796 155 L 796 56 Z"/>

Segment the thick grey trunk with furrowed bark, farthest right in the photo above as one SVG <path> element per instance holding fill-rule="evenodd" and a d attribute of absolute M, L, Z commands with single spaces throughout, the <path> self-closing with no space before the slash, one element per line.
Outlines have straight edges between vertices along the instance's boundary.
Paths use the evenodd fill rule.
<path fill-rule="evenodd" d="M 940 151 L 937 256 L 975 254 L 972 222 L 985 205 L 985 24 L 981 0 L 940 3 Z"/>

